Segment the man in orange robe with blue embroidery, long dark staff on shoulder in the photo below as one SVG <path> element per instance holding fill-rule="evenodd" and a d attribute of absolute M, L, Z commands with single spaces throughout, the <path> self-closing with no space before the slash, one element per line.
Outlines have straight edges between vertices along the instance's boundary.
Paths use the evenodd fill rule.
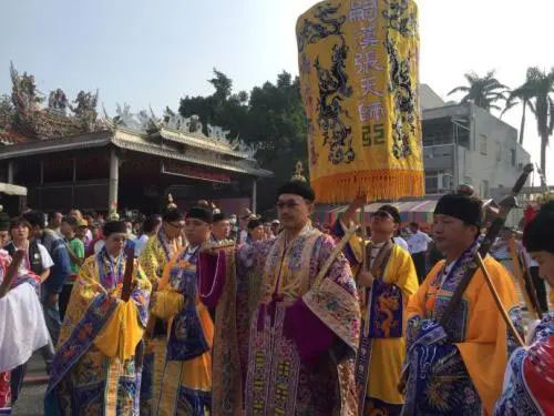
<path fill-rule="evenodd" d="M 482 203 L 463 193 L 442 196 L 433 216 L 437 247 L 444 253 L 408 303 L 407 385 L 402 415 L 491 415 L 515 342 L 478 270 L 448 324 L 447 305 L 479 248 Z M 502 304 L 522 328 L 512 277 L 484 258 Z"/>

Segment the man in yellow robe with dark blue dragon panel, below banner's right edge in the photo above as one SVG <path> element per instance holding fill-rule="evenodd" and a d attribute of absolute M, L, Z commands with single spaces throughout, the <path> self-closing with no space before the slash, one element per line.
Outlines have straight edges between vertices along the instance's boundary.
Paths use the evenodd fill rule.
<path fill-rule="evenodd" d="M 365 196 L 356 199 L 335 223 L 337 237 L 345 235 L 346 224 L 365 203 Z M 410 253 L 394 242 L 400 223 L 398 209 L 382 205 L 371 216 L 371 240 L 363 242 L 355 236 L 345 250 L 362 313 L 356 365 L 360 415 L 399 415 L 404 403 L 398 390 L 406 354 L 404 311 L 418 290 L 418 274 Z"/>

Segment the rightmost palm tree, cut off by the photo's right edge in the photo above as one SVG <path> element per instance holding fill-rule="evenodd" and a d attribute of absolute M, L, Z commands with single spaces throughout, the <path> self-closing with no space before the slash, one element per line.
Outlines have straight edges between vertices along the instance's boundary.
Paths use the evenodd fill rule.
<path fill-rule="evenodd" d="M 531 111 L 535 114 L 541 136 L 541 170 L 546 177 L 546 148 L 554 131 L 554 68 L 548 73 L 533 67 L 527 70 L 527 84 L 533 91 Z"/>

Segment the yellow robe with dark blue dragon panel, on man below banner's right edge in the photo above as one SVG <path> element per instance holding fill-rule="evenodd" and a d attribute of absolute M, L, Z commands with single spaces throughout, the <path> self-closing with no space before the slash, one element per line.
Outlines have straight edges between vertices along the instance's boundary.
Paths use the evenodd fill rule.
<path fill-rule="evenodd" d="M 345 235 L 340 221 L 332 226 L 332 233 L 338 239 Z M 360 237 L 353 236 L 350 240 L 345 255 L 357 276 L 363 261 Z M 369 250 L 366 255 L 369 257 Z M 370 260 L 367 261 L 370 264 Z M 362 328 L 356 374 L 358 388 L 365 389 L 359 392 L 360 414 L 363 414 L 363 406 L 371 406 L 372 410 L 380 407 L 376 403 L 367 404 L 366 397 L 371 399 L 370 402 L 377 399 L 378 404 L 382 402 L 382 407 L 388 408 L 389 413 L 397 409 L 394 405 L 398 407 L 404 402 L 398 390 L 406 356 L 404 311 L 409 297 L 418 290 L 418 275 L 410 253 L 397 244 L 392 245 L 390 255 L 377 274 L 373 276 L 371 288 L 358 287 Z M 370 409 L 366 410 L 366 414 L 369 414 Z"/>

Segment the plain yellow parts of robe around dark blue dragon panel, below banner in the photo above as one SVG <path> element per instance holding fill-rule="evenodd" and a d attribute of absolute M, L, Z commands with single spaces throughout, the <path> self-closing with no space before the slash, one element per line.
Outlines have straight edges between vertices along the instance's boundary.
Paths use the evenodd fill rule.
<path fill-rule="evenodd" d="M 362 262 L 361 239 L 352 237 L 349 242 L 356 262 Z M 358 268 L 353 270 L 355 276 Z M 402 291 L 403 305 L 408 304 L 409 297 L 418 291 L 418 275 L 413 266 L 410 253 L 394 244 L 390 258 L 383 272 L 382 282 L 393 284 Z M 360 296 L 362 302 L 361 316 L 367 316 L 368 302 Z M 403 315 L 403 313 L 402 313 Z M 402 331 L 403 333 L 403 331 Z M 406 357 L 404 337 L 373 338 L 371 347 L 371 361 L 369 367 L 368 398 L 378 398 L 382 402 L 401 405 L 403 396 L 398 392 L 402 364 Z"/>

